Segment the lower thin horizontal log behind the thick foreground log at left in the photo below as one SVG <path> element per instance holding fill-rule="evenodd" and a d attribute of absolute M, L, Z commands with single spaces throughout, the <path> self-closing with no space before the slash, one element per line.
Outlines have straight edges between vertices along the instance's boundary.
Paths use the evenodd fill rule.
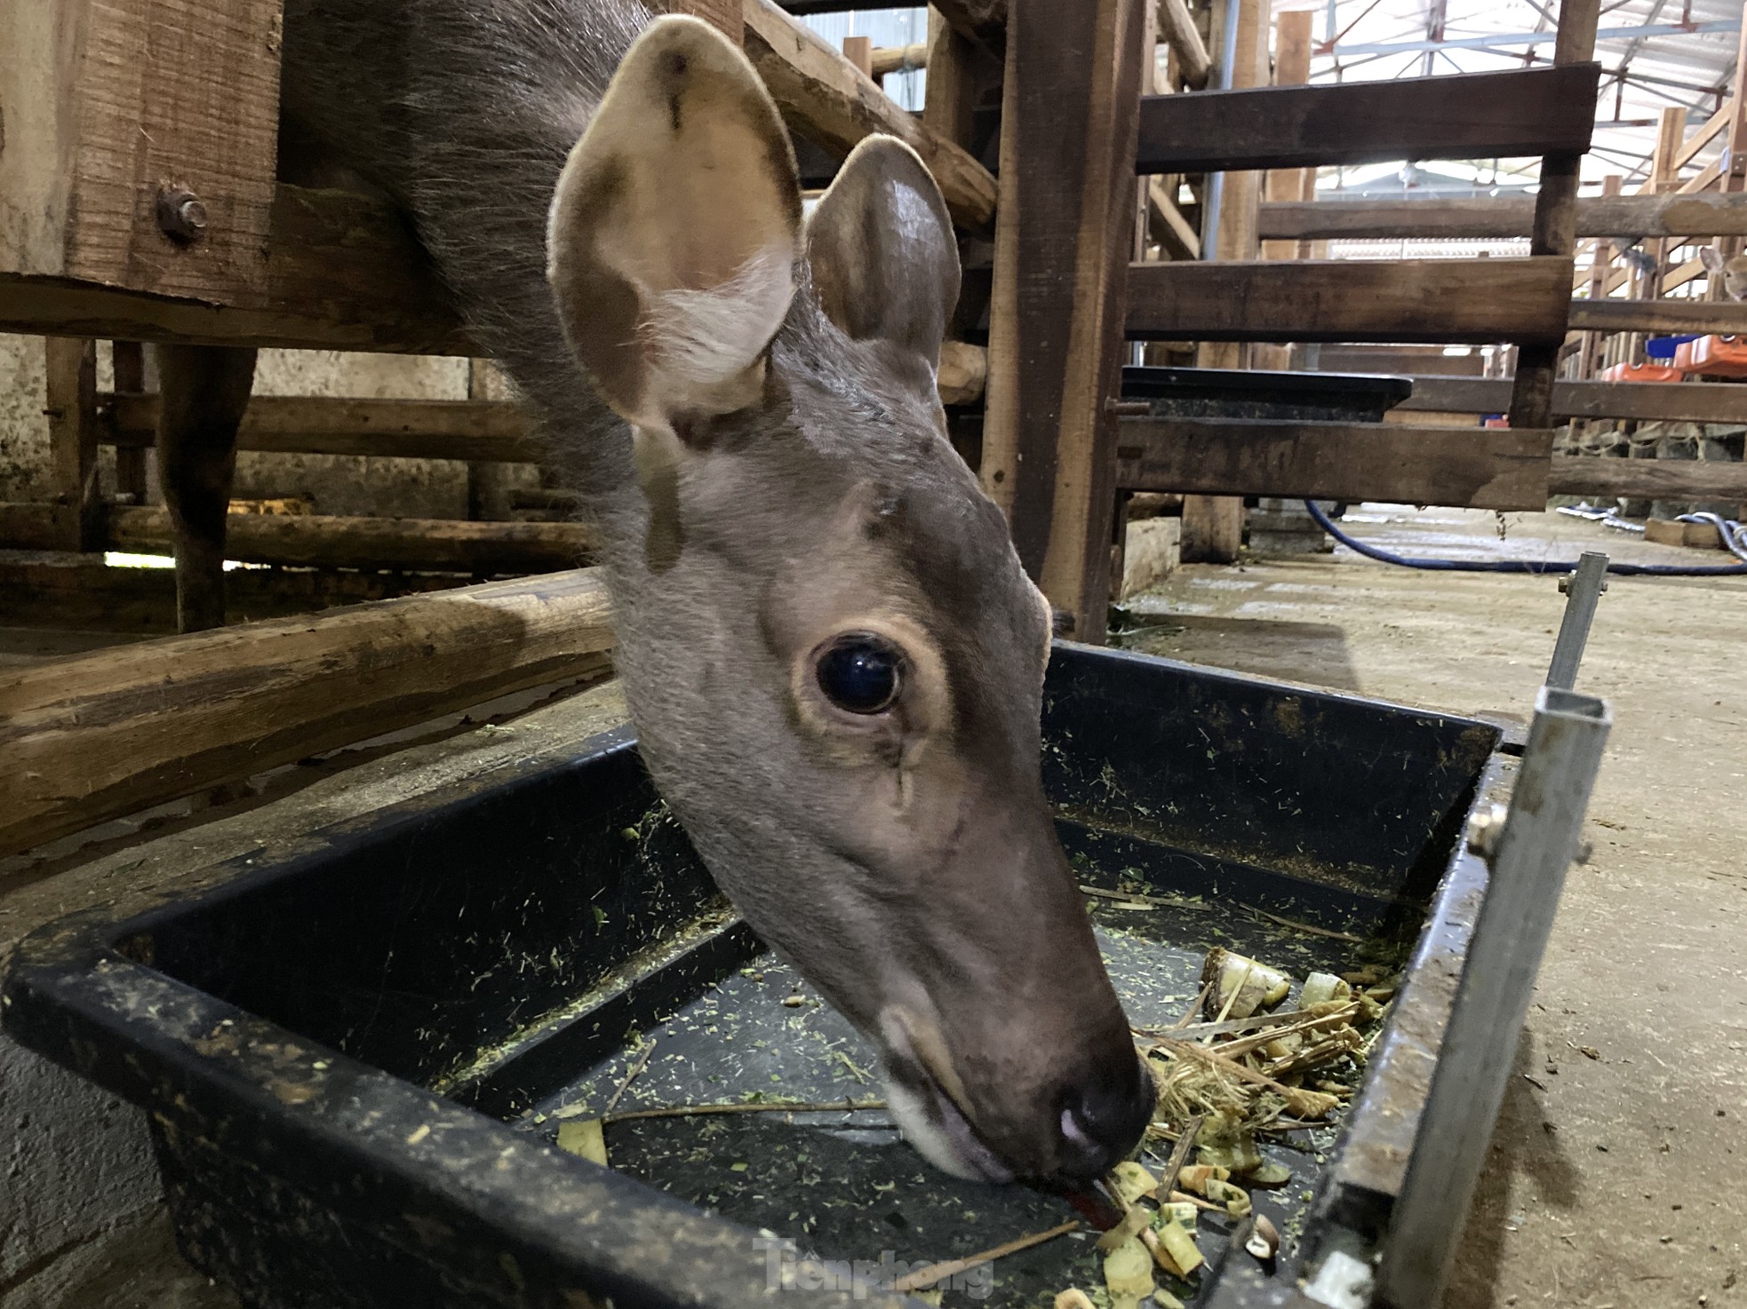
<path fill-rule="evenodd" d="M 66 518 L 56 504 L 0 503 L 0 548 L 61 550 Z M 596 545 L 592 527 L 568 522 L 231 513 L 225 531 L 225 559 L 243 564 L 418 572 L 557 572 Z M 173 541 L 166 510 L 112 508 L 94 548 L 168 555 Z"/>

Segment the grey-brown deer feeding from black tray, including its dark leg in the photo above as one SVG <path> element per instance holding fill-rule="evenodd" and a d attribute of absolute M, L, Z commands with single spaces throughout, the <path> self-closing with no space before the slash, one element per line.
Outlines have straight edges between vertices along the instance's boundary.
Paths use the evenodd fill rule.
<path fill-rule="evenodd" d="M 634 0 L 287 0 L 281 96 L 281 175 L 398 204 L 542 424 L 657 791 L 879 1049 L 905 1138 L 1101 1176 L 1155 1089 L 1043 794 L 1050 606 L 945 435 L 959 255 L 922 161 L 868 136 L 804 216 L 744 54 Z M 222 550 L 252 372 L 164 351 L 166 483 L 206 469 L 168 497 L 178 574 Z"/>

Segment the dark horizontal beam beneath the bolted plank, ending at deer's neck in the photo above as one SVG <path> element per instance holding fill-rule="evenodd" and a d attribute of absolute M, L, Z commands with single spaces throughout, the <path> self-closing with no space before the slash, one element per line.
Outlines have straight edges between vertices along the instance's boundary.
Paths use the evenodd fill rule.
<path fill-rule="evenodd" d="M 384 201 L 281 185 L 273 197 L 267 251 L 264 304 L 257 307 L 0 271 L 0 332 L 479 354 L 405 218 Z"/>

